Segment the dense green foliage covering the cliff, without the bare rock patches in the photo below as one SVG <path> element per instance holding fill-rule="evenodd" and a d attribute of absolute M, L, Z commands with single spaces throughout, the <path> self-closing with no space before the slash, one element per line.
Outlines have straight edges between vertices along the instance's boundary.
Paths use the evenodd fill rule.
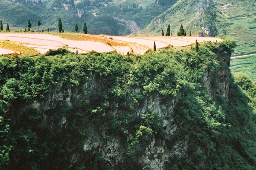
<path fill-rule="evenodd" d="M 207 42 L 198 53 L 161 50 L 143 57 L 84 56 L 64 49 L 33 58 L 0 57 L 1 168 L 142 170 L 148 165 L 138 160 L 155 139 L 156 146 L 166 143 L 170 151 L 186 148 L 166 158 L 169 170 L 253 170 L 255 85 L 244 76 L 230 78 L 225 100 L 213 98 L 202 81 L 208 70 L 218 88 L 216 70 L 226 66 L 217 58 L 230 57 L 234 47 L 224 41 Z M 136 116 L 154 96 L 163 106 L 180 98 L 170 120 L 177 126 L 172 136 L 167 137 L 157 110 Z M 93 136 L 93 143 L 119 141 L 115 167 L 103 148 L 84 151 Z M 71 164 L 74 154 L 81 159 Z"/>

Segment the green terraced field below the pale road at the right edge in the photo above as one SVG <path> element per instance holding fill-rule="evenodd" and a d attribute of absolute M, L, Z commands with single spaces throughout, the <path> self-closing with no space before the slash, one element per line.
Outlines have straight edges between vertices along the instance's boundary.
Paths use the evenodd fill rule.
<path fill-rule="evenodd" d="M 245 73 L 253 81 L 256 81 L 256 55 L 231 59 L 231 72 Z"/>

